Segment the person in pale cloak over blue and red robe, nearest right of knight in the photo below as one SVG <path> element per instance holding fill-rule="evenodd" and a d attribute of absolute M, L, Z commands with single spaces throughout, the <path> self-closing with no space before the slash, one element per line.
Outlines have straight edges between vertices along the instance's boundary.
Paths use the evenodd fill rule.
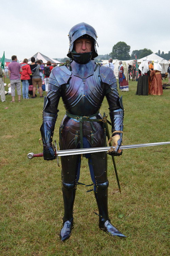
<path fill-rule="evenodd" d="M 120 80 L 120 90 L 129 92 L 128 65 L 125 62 L 123 62 L 122 66 L 120 67 L 119 80 Z"/>

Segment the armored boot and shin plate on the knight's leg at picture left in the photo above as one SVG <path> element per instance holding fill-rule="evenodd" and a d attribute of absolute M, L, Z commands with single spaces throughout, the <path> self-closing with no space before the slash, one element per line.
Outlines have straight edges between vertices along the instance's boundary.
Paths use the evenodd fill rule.
<path fill-rule="evenodd" d="M 72 233 L 75 191 L 75 184 L 66 184 L 63 182 L 62 192 L 64 201 L 64 217 L 63 228 L 60 231 L 61 241 L 65 241 L 66 239 L 68 239 Z"/>

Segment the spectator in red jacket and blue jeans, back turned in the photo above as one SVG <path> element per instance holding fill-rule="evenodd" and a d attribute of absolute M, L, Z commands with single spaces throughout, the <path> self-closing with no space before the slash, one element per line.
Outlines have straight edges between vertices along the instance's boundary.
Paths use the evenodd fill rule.
<path fill-rule="evenodd" d="M 28 59 L 24 59 L 23 63 L 21 63 L 22 73 L 21 73 L 21 82 L 22 82 L 22 96 L 23 99 L 29 99 L 28 96 L 28 87 L 29 87 L 29 80 L 31 75 L 31 68 L 28 65 Z"/>

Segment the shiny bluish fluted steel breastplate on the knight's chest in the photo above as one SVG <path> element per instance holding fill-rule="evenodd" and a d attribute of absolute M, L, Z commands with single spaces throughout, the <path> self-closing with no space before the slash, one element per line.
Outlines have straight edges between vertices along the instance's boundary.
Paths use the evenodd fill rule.
<path fill-rule="evenodd" d="M 74 61 L 71 63 L 71 78 L 61 91 L 65 109 L 69 113 L 91 116 L 99 111 L 105 90 L 98 76 L 99 71 L 94 72 L 95 66 L 93 60 L 83 65 Z"/>

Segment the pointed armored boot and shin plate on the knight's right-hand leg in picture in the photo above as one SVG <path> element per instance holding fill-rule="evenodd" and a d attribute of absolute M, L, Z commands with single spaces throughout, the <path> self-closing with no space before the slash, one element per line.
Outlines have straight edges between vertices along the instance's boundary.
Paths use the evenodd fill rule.
<path fill-rule="evenodd" d="M 107 189 L 108 181 L 103 184 L 96 185 L 95 198 L 99 210 L 99 228 L 107 232 L 109 235 L 126 237 L 117 228 L 115 228 L 108 216 L 108 205 L 107 205 Z"/>

